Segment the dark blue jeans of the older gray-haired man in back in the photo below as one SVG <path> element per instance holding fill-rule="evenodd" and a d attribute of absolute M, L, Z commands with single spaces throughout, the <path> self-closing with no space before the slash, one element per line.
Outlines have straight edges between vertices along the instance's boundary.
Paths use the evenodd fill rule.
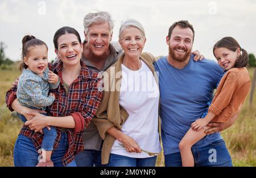
<path fill-rule="evenodd" d="M 104 167 L 101 164 L 101 151 L 98 150 L 83 150 L 76 157 L 77 167 Z"/>

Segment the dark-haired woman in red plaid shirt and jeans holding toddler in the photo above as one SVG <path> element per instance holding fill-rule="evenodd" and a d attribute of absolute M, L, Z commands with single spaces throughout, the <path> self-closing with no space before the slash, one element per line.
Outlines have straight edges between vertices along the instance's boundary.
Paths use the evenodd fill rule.
<path fill-rule="evenodd" d="M 16 99 L 16 87 L 6 94 L 7 107 L 27 118 L 14 146 L 14 166 L 36 166 L 42 158 L 42 129 L 55 126 L 57 137 L 53 146 L 54 166 L 76 166 L 75 155 L 83 150 L 82 133 L 90 124 L 102 99 L 101 77 L 81 62 L 82 43 L 79 33 L 71 27 L 56 31 L 53 38 L 59 63 L 49 69 L 59 75 L 60 85 L 51 92 L 55 101 L 47 107 L 49 116 L 40 110 L 23 107 Z"/>

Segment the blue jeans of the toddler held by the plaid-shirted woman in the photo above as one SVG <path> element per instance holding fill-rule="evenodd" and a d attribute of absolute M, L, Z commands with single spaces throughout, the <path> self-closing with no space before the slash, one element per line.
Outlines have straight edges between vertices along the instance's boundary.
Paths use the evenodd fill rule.
<path fill-rule="evenodd" d="M 17 115 L 20 118 L 20 120 L 22 120 L 23 122 L 27 121 L 25 116 L 20 115 L 20 113 L 17 113 Z M 48 116 L 47 113 L 42 113 L 42 115 Z M 50 126 L 50 127 L 51 127 L 51 130 L 48 130 L 47 128 L 43 128 L 44 138 L 42 142 L 42 149 L 46 151 L 53 150 L 53 145 L 57 137 L 56 129 L 53 126 Z"/>

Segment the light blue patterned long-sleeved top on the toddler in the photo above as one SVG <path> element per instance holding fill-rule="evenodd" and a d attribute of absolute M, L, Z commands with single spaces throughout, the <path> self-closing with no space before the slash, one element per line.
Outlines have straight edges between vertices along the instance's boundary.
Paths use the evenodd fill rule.
<path fill-rule="evenodd" d="M 20 104 L 45 110 L 53 103 L 55 98 L 48 96 L 48 92 L 49 89 L 54 90 L 59 86 L 60 79 L 57 83 L 48 83 L 48 73 L 48 67 L 44 70 L 43 77 L 29 69 L 23 69 L 17 89 L 17 98 Z"/>

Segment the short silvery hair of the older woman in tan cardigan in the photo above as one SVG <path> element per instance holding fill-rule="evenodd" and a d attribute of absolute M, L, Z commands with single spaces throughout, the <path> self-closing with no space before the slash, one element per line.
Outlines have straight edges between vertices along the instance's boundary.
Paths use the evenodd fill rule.
<path fill-rule="evenodd" d="M 141 31 L 141 34 L 142 34 L 143 39 L 146 38 L 145 31 L 144 31 L 144 28 L 143 28 L 142 24 L 139 23 L 137 20 L 134 20 L 134 19 L 127 19 L 127 20 L 125 20 L 125 22 L 122 22 L 122 24 L 121 24 L 121 27 L 120 27 L 120 29 L 119 29 L 119 35 L 118 35 L 119 39 L 121 39 L 123 30 L 125 30 L 125 29 L 128 28 L 128 27 L 135 27 L 135 28 L 138 28 L 139 31 Z"/>

